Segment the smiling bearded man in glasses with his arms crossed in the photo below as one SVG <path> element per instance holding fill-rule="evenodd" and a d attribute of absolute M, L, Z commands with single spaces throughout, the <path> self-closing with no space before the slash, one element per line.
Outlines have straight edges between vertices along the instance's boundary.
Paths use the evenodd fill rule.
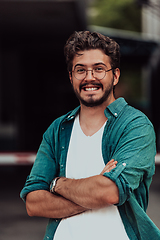
<path fill-rule="evenodd" d="M 65 56 L 80 107 L 56 119 L 43 136 L 21 192 L 28 214 L 50 218 L 48 240 L 160 239 L 145 213 L 155 134 L 143 113 L 115 100 L 118 44 L 75 32 Z"/>

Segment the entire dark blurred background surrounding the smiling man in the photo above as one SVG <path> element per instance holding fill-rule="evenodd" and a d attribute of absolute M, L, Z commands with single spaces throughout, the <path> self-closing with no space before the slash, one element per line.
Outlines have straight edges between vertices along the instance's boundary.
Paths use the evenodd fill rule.
<path fill-rule="evenodd" d="M 52 121 L 78 105 L 63 48 L 75 30 L 98 31 L 121 47 L 116 96 L 152 121 L 160 152 L 159 0 L 0 0 L 0 239 L 43 239 L 19 193 Z M 160 228 L 160 156 L 148 214 Z"/>

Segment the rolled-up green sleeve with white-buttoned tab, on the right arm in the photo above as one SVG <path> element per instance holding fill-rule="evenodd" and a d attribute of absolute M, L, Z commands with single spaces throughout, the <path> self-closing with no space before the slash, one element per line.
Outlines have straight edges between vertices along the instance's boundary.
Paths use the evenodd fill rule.
<path fill-rule="evenodd" d="M 152 124 L 136 119 L 131 122 L 118 139 L 111 158 L 118 163 L 104 176 L 116 183 L 119 189 L 118 206 L 127 201 L 134 190 L 143 185 L 147 188 L 155 170 L 155 133 Z M 146 189 L 145 191 L 148 191 Z"/>

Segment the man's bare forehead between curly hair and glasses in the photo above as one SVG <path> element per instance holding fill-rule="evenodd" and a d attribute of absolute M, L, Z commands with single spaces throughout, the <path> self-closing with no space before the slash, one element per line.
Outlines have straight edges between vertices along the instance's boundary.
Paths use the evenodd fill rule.
<path fill-rule="evenodd" d="M 73 58 L 73 67 L 77 64 L 93 66 L 97 63 L 104 63 L 108 66 L 110 65 L 110 57 L 100 49 L 90 49 L 79 51 Z"/>

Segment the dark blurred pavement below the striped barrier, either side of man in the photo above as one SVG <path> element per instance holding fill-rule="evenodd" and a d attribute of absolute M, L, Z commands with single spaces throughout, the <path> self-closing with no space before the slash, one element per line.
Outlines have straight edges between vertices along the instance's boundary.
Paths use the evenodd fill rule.
<path fill-rule="evenodd" d="M 0 166 L 0 240 L 42 240 L 48 220 L 29 217 L 19 194 L 31 165 Z M 160 165 L 150 188 L 147 213 L 160 228 Z"/>

